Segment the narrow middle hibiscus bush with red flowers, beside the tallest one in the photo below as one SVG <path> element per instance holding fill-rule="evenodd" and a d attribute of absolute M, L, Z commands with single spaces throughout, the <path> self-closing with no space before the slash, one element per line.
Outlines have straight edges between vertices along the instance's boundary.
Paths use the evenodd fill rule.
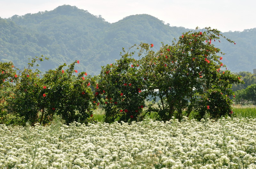
<path fill-rule="evenodd" d="M 106 112 L 106 122 L 139 120 L 145 106 L 145 85 L 140 65 L 125 52 L 120 60 L 102 67 L 95 95 Z"/>

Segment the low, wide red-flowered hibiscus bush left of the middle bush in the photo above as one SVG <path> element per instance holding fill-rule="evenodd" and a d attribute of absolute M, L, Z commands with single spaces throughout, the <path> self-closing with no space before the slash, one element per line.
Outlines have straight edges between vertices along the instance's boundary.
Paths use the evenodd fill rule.
<path fill-rule="evenodd" d="M 35 62 L 33 60 L 30 64 Z M 10 112 L 17 114 L 22 124 L 28 121 L 31 124 L 49 123 L 54 115 L 62 116 L 66 123 L 75 120 L 86 123 L 96 108 L 93 102 L 94 88 L 91 86 L 94 80 L 86 76 L 85 72 L 75 75 L 76 63 L 79 61 L 70 64 L 65 70 L 66 64 L 63 64 L 45 74 L 33 71 L 29 65 L 20 72 L 13 97 L 8 99 Z"/>

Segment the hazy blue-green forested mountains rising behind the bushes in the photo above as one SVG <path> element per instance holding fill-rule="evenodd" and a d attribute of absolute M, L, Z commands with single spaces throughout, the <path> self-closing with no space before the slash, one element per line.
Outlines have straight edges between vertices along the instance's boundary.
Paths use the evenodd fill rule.
<path fill-rule="evenodd" d="M 165 25 L 147 14 L 132 15 L 111 24 L 101 16 L 63 5 L 52 11 L 0 18 L 0 61 L 12 61 L 22 68 L 28 58 L 44 55 L 50 59 L 40 63 L 39 69 L 46 71 L 79 60 L 77 70 L 95 75 L 101 66 L 120 58 L 122 47 L 127 49 L 144 42 L 159 49 L 161 42 L 171 44 L 173 38 L 187 31 Z M 252 72 L 256 68 L 256 29 L 223 34 L 236 42 L 234 45 L 221 39 L 221 43 L 216 43 L 227 53 L 223 63 L 233 72 Z"/>

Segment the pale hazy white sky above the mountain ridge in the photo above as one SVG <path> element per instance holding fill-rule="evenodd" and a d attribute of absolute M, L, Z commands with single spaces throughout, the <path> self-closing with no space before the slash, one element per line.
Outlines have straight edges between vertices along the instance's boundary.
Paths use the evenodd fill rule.
<path fill-rule="evenodd" d="M 113 23 L 129 15 L 149 14 L 171 26 L 212 27 L 222 32 L 256 27 L 255 0 L 0 0 L 0 17 L 51 11 L 67 4 Z"/>

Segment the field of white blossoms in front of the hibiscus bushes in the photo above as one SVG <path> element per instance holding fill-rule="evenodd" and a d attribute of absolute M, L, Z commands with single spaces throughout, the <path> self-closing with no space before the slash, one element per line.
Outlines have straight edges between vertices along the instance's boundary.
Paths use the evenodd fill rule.
<path fill-rule="evenodd" d="M 0 125 L 0 168 L 256 168 L 256 119 Z"/>

